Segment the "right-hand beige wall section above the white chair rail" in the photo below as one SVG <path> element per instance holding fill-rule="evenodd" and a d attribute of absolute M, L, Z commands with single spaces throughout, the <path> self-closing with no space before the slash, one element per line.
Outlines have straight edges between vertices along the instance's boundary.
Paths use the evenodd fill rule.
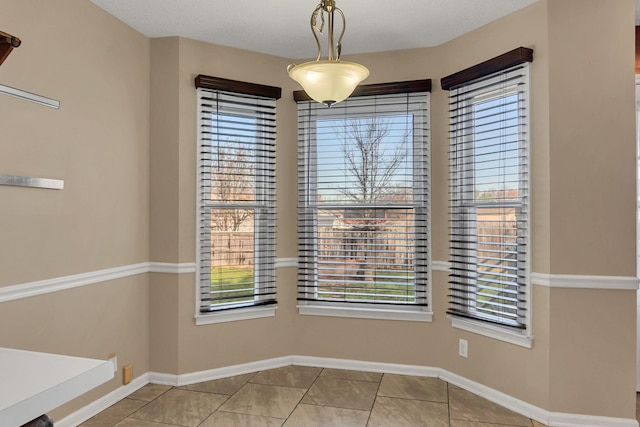
<path fill-rule="evenodd" d="M 630 1 L 549 2 L 554 273 L 635 275 L 634 16 Z"/>

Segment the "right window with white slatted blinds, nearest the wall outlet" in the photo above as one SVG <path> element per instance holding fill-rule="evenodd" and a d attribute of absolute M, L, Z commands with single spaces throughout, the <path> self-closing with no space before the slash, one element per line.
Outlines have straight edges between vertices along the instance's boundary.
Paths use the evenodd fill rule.
<path fill-rule="evenodd" d="M 529 62 L 521 61 L 448 88 L 448 313 L 524 336 L 530 334 L 528 84 Z"/>

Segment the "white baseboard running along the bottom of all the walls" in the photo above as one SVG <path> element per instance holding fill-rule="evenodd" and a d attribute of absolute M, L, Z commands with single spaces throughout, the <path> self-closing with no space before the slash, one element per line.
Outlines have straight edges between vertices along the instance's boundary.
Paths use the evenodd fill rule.
<path fill-rule="evenodd" d="M 550 427 L 639 427 L 638 421 L 635 419 L 550 412 L 498 390 L 492 389 L 491 387 L 487 387 L 458 374 L 454 374 L 453 372 L 449 372 L 446 369 L 419 365 L 402 365 L 395 363 L 367 362 L 360 360 L 297 355 L 259 360 L 256 362 L 209 369 L 206 371 L 188 374 L 174 375 L 159 372 L 148 372 L 136 378 L 131 382 L 131 384 L 120 387 L 81 410 L 62 419 L 56 423 L 56 427 L 76 426 L 125 398 L 130 393 L 133 393 L 135 390 L 143 387 L 149 382 L 154 384 L 183 386 L 290 365 L 440 378 Z"/>

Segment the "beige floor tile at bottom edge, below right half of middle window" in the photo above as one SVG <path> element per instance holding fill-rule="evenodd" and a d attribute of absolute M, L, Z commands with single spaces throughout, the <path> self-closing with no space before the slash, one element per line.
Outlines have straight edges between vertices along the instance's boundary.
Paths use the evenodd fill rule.
<path fill-rule="evenodd" d="M 446 403 L 378 396 L 368 427 L 449 427 Z"/>

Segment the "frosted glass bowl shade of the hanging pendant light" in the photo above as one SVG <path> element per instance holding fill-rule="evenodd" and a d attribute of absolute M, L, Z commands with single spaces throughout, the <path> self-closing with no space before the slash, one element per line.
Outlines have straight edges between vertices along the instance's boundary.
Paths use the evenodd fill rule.
<path fill-rule="evenodd" d="M 290 67 L 289 77 L 315 101 L 331 106 L 348 98 L 369 70 L 355 62 L 311 61 Z"/>

